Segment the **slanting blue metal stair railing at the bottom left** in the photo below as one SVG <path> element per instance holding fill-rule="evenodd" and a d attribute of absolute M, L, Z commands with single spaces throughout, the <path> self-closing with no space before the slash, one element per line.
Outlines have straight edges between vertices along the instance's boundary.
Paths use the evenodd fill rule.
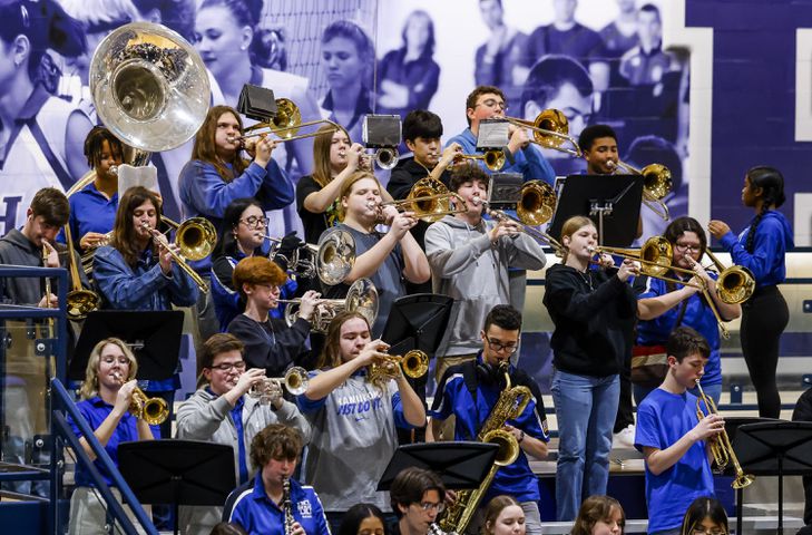
<path fill-rule="evenodd" d="M 129 486 L 124 480 L 124 477 L 121 477 L 121 474 L 118 471 L 118 468 L 112 464 L 112 459 L 110 459 L 110 456 L 107 455 L 107 451 L 94 435 L 92 429 L 90 429 L 88 422 L 76 408 L 76 405 L 74 405 L 74 400 L 70 398 L 70 395 L 68 395 L 62 382 L 59 379 L 53 379 L 51 380 L 51 436 L 53 437 L 55 454 L 61 454 L 62 446 L 60 442 L 62 440 L 74 448 L 77 463 L 80 463 L 87 470 L 96 489 L 105 499 L 108 510 L 111 512 L 112 518 L 120 524 L 125 534 L 137 535 L 138 531 L 130 522 L 121 504 L 118 499 L 116 499 L 110 486 L 107 485 L 99 469 L 96 467 L 94 461 L 90 460 L 85 448 L 82 448 L 79 444 L 79 438 L 74 434 L 70 424 L 68 424 L 67 416 L 70 416 L 74 424 L 79 427 L 82 437 L 85 437 L 94 455 L 96 455 L 96 460 L 100 463 L 105 470 L 110 475 L 115 487 L 121 493 L 124 502 L 129 504 L 138 524 L 140 524 L 144 528 L 144 532 L 149 535 L 158 535 L 158 531 L 147 517 L 144 507 L 141 507 L 140 503 L 136 499 L 133 490 L 130 490 Z M 61 477 L 59 474 L 59 466 L 57 464 L 57 458 L 60 457 L 61 455 L 51 455 L 51 496 L 59 496 L 59 490 L 61 490 Z M 60 524 L 61 515 L 58 510 L 58 499 L 51 499 L 50 502 L 49 525 L 56 526 L 56 531 L 50 533 L 65 533 L 63 526 Z"/>

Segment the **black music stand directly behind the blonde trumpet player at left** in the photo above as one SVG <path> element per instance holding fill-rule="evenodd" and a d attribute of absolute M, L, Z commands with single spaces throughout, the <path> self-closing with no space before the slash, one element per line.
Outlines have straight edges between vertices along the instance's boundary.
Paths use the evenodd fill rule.
<path fill-rule="evenodd" d="M 90 351 L 101 340 L 120 338 L 138 361 L 138 379 L 166 379 L 175 373 L 180 352 L 184 313 L 97 310 L 87 315 L 68 366 L 68 378 L 85 379 Z"/>

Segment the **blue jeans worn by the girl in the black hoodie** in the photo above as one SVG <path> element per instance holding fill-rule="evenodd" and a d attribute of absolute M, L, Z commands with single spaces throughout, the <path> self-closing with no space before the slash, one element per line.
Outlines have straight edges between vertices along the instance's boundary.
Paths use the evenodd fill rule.
<path fill-rule="evenodd" d="M 551 391 L 559 435 L 556 512 L 559 522 L 567 522 L 578 516 L 584 498 L 606 494 L 620 381 L 617 374 L 555 370 Z"/>

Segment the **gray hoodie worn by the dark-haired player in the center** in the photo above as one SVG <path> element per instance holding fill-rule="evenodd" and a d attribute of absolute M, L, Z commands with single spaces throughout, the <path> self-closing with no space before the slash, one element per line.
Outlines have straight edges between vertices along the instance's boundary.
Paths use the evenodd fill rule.
<path fill-rule="evenodd" d="M 522 233 L 501 236 L 491 244 L 488 232 L 493 221 L 471 226 L 447 215 L 425 231 L 425 255 L 431 266 L 434 293 L 453 298 L 451 319 L 438 356 L 476 353 L 482 347 L 479 331 L 486 315 L 497 304 L 510 302 L 508 268 L 540 270 L 545 266 L 541 246 Z"/>

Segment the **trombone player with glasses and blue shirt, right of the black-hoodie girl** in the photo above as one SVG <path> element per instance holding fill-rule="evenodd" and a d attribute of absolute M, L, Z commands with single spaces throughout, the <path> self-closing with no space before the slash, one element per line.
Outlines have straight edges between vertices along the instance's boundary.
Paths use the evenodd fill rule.
<path fill-rule="evenodd" d="M 668 224 L 663 237 L 671 243 L 674 251 L 672 265 L 696 273 L 696 279 L 692 281 L 672 271 L 667 272 L 666 276 L 684 280 L 686 283 L 705 284 L 707 294 L 722 319 L 728 321 L 738 318 L 742 313 L 741 307 L 727 304 L 720 299 L 716 293 L 715 275 L 706 272 L 700 263 L 707 249 L 705 230 L 700 222 L 693 217 L 677 217 Z M 696 329 L 711 346 L 711 356 L 702 376 L 702 389 L 718 405 L 722 396 L 721 337 L 711 304 L 695 285 L 677 286 L 673 282 L 653 276 L 637 278 L 635 289 L 639 289 L 643 293 L 637 295 L 640 321 L 637 323 L 637 344 L 634 354 L 643 357 L 659 352 L 665 361 L 665 341 L 671 331 L 681 324 Z M 648 392 L 659 386 L 659 382 L 662 378 L 657 385 L 634 386 L 635 401 L 638 406 Z M 692 390 L 692 393 L 698 392 Z"/>

